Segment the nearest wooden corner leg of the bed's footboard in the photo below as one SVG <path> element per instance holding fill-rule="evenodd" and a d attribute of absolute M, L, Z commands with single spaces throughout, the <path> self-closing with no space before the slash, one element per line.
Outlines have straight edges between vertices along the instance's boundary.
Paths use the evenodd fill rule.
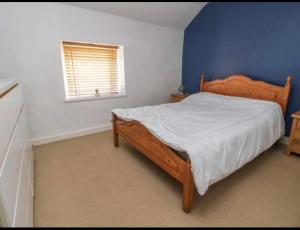
<path fill-rule="evenodd" d="M 195 190 L 190 161 L 188 161 L 185 175 L 186 176 L 183 183 L 183 211 L 185 213 L 189 213 L 192 209 L 194 190 Z"/>

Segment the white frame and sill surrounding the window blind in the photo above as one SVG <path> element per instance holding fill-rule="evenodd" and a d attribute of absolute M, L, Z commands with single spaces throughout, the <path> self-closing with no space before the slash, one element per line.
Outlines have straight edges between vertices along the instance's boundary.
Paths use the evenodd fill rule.
<path fill-rule="evenodd" d="M 117 63 L 118 63 L 118 81 L 120 85 L 120 92 L 116 95 L 99 95 L 99 96 L 69 96 L 68 95 L 68 83 L 67 83 L 67 73 L 66 73 L 66 65 L 64 58 L 64 42 L 68 43 L 80 43 L 87 45 L 99 45 L 99 46 L 117 46 Z M 83 42 L 83 41 L 71 41 L 71 40 L 60 40 L 60 55 L 62 62 L 62 71 L 63 71 L 63 80 L 64 80 L 64 102 L 79 102 L 79 101 L 91 101 L 91 100 L 102 100 L 109 98 L 120 98 L 127 97 L 126 87 L 125 87 L 125 68 L 124 68 L 124 46 L 123 45 L 115 45 L 115 44 L 107 44 L 107 43 L 94 43 L 94 42 Z"/>

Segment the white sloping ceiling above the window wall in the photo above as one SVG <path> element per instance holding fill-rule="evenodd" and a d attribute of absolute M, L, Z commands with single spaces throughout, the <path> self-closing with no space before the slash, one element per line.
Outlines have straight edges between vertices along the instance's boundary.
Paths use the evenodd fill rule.
<path fill-rule="evenodd" d="M 63 2 L 81 8 L 184 30 L 206 2 Z"/>

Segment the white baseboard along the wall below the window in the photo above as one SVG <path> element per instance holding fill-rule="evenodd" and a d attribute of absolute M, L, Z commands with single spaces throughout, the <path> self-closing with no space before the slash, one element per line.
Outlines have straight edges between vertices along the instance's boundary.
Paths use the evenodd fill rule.
<path fill-rule="evenodd" d="M 81 130 L 76 130 L 76 131 L 63 133 L 63 134 L 59 134 L 59 135 L 55 135 L 55 136 L 50 136 L 50 137 L 33 138 L 31 140 L 31 142 L 34 146 L 38 146 L 38 145 L 44 145 L 44 144 L 48 144 L 48 143 L 52 143 L 52 142 L 56 142 L 56 141 L 62 141 L 62 140 L 67 140 L 67 139 L 71 139 L 71 138 L 75 138 L 75 137 L 90 135 L 90 134 L 94 134 L 94 133 L 100 133 L 100 132 L 104 132 L 104 131 L 111 130 L 111 129 L 112 129 L 112 125 L 106 124 L 106 125 L 101 125 L 101 126 L 97 126 L 97 127 L 81 129 Z"/>

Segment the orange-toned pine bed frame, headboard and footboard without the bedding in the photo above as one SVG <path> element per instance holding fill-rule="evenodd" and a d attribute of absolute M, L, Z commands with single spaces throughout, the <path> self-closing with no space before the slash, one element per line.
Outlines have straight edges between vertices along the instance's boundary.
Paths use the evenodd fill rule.
<path fill-rule="evenodd" d="M 247 97 L 277 102 L 285 113 L 291 88 L 291 77 L 284 87 L 263 81 L 254 81 L 244 75 L 232 75 L 223 80 L 206 82 L 201 75 L 200 90 L 222 95 Z M 183 185 L 183 211 L 192 208 L 195 190 L 191 162 L 183 159 L 169 146 L 163 144 L 138 121 L 124 121 L 112 113 L 114 145 L 118 146 L 118 136 L 123 137 L 133 147 L 165 170 Z"/>

